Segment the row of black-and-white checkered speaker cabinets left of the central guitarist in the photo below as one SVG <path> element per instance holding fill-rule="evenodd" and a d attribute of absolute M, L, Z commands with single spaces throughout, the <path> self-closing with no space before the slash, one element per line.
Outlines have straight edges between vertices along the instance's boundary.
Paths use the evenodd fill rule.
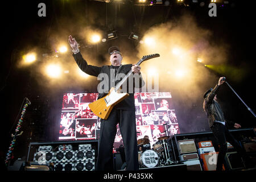
<path fill-rule="evenodd" d="M 95 150 L 91 144 L 80 144 L 79 150 L 73 150 L 71 144 L 60 145 L 58 151 L 53 151 L 52 146 L 39 146 L 33 162 L 53 163 L 55 171 L 94 171 Z"/>

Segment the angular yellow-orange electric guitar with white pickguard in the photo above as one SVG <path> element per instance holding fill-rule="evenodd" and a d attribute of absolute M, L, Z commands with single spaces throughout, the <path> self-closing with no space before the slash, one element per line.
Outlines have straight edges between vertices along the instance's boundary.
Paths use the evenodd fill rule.
<path fill-rule="evenodd" d="M 159 56 L 160 55 L 158 53 L 155 53 L 153 55 L 143 56 L 142 59 L 138 61 L 137 65 L 140 65 L 143 61 L 146 61 L 148 59 L 152 59 L 155 57 L 159 57 Z M 133 73 L 132 70 L 130 70 L 129 73 L 127 73 L 127 75 L 121 81 L 119 81 L 115 87 L 112 87 L 109 90 L 108 95 L 88 105 L 90 107 L 90 110 L 92 110 L 95 115 L 97 115 L 102 119 L 108 119 L 109 114 L 111 113 L 113 107 L 129 96 L 128 93 L 120 93 L 121 92 L 120 88 L 123 82 L 125 82 L 127 78 L 131 75 L 131 73 Z"/>

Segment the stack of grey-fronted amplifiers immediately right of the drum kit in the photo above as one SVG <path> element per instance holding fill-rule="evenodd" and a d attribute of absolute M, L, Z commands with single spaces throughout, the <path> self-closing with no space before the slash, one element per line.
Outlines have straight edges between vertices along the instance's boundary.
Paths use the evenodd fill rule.
<path fill-rule="evenodd" d="M 184 160 L 188 171 L 202 171 L 194 139 L 177 141 L 180 160 Z"/>

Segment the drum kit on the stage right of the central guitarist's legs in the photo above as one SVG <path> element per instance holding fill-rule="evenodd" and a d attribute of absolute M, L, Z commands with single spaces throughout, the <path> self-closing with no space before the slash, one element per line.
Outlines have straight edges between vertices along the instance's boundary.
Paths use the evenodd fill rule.
<path fill-rule="evenodd" d="M 170 137 L 159 137 L 158 141 L 153 144 L 152 149 L 148 147 L 146 150 L 138 152 L 139 168 L 162 167 L 175 163 L 174 160 L 172 160 L 172 148 L 168 142 L 168 138 Z M 137 143 L 138 146 L 143 146 L 145 144 L 150 144 L 150 140 L 141 138 Z"/>

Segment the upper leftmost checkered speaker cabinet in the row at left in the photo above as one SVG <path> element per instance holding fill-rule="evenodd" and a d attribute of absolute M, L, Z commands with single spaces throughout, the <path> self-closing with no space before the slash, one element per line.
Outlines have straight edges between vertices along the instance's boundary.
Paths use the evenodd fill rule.
<path fill-rule="evenodd" d="M 33 162 L 41 164 L 55 163 L 55 152 L 39 151 L 34 154 Z"/>

